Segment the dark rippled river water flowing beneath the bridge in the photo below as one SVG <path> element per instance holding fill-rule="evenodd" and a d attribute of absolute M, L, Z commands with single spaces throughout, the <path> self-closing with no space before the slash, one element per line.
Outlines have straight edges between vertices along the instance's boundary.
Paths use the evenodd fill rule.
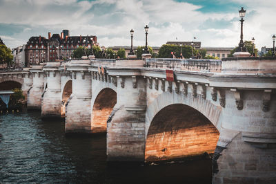
<path fill-rule="evenodd" d="M 39 112 L 0 116 L 0 183 L 211 183 L 210 159 L 106 162 L 106 135 L 66 137 Z"/>

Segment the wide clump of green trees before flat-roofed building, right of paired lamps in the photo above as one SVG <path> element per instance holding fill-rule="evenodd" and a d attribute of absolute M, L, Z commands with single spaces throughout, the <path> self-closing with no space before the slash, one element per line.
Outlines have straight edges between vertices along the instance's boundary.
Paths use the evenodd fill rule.
<path fill-rule="evenodd" d="M 164 44 L 159 49 L 158 57 L 160 58 L 172 58 L 171 52 L 175 53 L 175 57 L 180 57 L 180 53 L 185 58 L 192 57 L 192 46 L 177 46 L 172 44 Z M 194 48 L 194 55 L 196 55 L 199 51 Z"/>

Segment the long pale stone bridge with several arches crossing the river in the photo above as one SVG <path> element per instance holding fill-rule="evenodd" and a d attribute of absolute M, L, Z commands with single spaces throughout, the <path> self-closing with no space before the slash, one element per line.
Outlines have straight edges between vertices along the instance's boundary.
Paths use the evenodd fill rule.
<path fill-rule="evenodd" d="M 66 134 L 106 132 L 108 160 L 213 155 L 213 183 L 276 180 L 276 60 L 83 59 L 0 73 Z"/>

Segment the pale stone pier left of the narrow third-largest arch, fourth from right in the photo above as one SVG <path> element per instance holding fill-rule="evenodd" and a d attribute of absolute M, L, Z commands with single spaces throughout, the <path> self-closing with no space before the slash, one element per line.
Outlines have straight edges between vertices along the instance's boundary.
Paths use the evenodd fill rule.
<path fill-rule="evenodd" d="M 47 73 L 47 88 L 42 94 L 41 118 L 61 118 L 61 77 L 59 62 L 48 62 L 43 70 Z"/>

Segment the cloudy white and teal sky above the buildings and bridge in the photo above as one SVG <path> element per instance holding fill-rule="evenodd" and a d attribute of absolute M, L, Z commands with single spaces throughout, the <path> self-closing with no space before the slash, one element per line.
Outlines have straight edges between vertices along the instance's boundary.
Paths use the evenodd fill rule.
<path fill-rule="evenodd" d="M 96 35 L 101 46 L 144 45 L 167 41 L 200 41 L 201 46 L 237 46 L 238 10 L 246 9 L 244 39 L 257 48 L 272 47 L 276 34 L 275 0 L 0 0 L 0 37 L 10 48 L 48 32 Z"/>

